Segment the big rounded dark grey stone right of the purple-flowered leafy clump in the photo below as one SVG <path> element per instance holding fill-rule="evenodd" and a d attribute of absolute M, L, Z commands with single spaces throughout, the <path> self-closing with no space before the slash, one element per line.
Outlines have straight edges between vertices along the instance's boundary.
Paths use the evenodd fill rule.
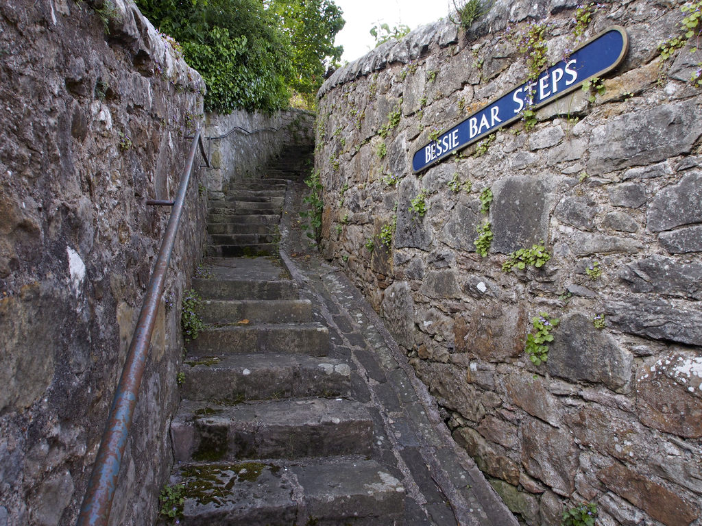
<path fill-rule="evenodd" d="M 548 351 L 548 372 L 569 380 L 600 382 L 621 389 L 631 377 L 632 356 L 616 340 L 576 312 L 563 316 L 553 331 Z"/>

